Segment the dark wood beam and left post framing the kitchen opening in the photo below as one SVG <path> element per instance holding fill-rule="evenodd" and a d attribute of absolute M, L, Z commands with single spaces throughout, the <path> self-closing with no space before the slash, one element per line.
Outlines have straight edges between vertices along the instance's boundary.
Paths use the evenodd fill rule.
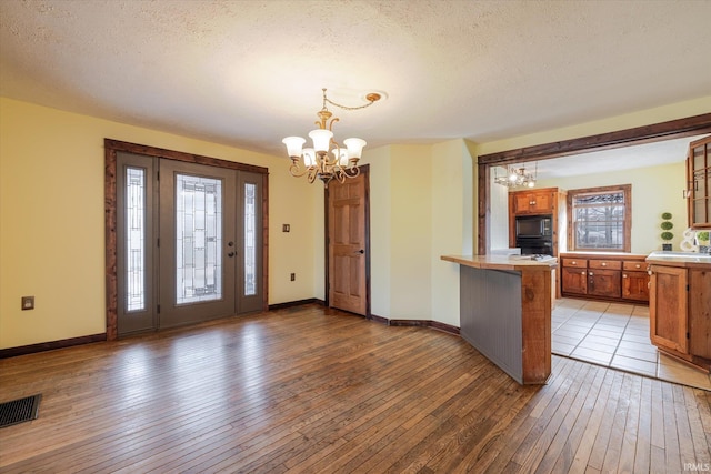
<path fill-rule="evenodd" d="M 610 150 L 703 133 L 711 133 L 711 113 L 480 155 L 478 159 L 479 201 L 477 214 L 479 231 L 477 235 L 477 253 L 482 255 L 487 253 L 487 223 L 491 215 L 491 203 L 489 202 L 491 189 L 489 174 L 491 167 L 548 160 L 551 158 L 569 157 L 591 151 Z"/>

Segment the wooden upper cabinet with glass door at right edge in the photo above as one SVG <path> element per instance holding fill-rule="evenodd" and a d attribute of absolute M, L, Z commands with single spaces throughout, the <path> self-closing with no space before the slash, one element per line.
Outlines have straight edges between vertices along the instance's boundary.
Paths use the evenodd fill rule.
<path fill-rule="evenodd" d="M 689 225 L 711 228 L 711 135 L 689 144 L 687 155 Z"/>

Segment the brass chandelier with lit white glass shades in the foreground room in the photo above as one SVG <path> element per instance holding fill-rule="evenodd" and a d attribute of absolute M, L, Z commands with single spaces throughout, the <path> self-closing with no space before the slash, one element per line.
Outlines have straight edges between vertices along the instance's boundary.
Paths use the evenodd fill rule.
<path fill-rule="evenodd" d="M 318 178 L 328 188 L 329 182 L 333 179 L 342 183 L 347 178 L 356 178 L 360 174 L 358 160 L 360 160 L 363 147 L 365 147 L 365 140 L 346 139 L 343 140 L 346 148 L 333 140 L 333 131 L 331 129 L 333 128 L 333 122 L 338 122 L 339 119 L 337 117 L 331 118 L 333 114 L 326 107 L 327 102 L 343 110 L 358 110 L 372 105 L 380 100 L 381 94 L 371 92 L 365 95 L 367 104 L 346 107 L 332 102 L 326 97 L 326 89 L 322 89 L 322 91 L 323 107 L 317 112 L 319 120 L 314 122 L 319 128 L 309 132 L 309 138 L 313 141 L 313 148 L 302 148 L 306 139 L 301 137 L 287 137 L 281 142 L 287 145 L 287 153 L 291 159 L 289 173 L 292 177 L 301 178 L 306 175 L 309 183 L 313 183 Z M 330 154 L 329 149 L 331 151 Z"/>

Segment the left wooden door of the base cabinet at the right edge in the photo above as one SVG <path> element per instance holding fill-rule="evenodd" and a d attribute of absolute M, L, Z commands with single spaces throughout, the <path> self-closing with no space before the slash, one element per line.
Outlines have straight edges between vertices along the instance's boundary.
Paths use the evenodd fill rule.
<path fill-rule="evenodd" d="M 650 339 L 658 346 L 687 354 L 687 269 L 651 265 L 650 270 Z"/>

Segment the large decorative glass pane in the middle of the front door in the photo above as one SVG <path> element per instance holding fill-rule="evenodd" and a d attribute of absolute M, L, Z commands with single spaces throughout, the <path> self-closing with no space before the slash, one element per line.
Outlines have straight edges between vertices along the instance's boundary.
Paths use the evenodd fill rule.
<path fill-rule="evenodd" d="M 222 299 L 222 182 L 177 175 L 176 304 Z"/>

